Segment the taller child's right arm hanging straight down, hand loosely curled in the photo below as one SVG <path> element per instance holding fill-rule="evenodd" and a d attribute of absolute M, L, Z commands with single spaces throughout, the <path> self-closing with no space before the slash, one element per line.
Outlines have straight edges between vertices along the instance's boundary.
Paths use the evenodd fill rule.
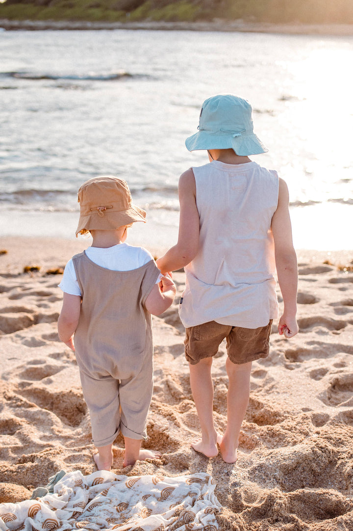
<path fill-rule="evenodd" d="M 277 210 L 274 212 L 271 229 L 274 239 L 274 255 L 278 283 L 283 297 L 283 314 L 278 323 L 280 335 L 293 337 L 298 333 L 296 321 L 298 264 L 292 243 L 292 229 L 289 217 L 288 187 L 283 179 L 279 179 Z"/>

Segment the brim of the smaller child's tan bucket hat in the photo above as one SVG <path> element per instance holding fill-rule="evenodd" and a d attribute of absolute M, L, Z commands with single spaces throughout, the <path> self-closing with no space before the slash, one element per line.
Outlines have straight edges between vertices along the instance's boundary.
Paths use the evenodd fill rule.
<path fill-rule="evenodd" d="M 115 230 L 124 225 L 130 225 L 135 221 L 145 220 L 146 212 L 142 208 L 131 205 L 126 210 L 105 210 L 100 216 L 98 210 L 92 210 L 87 216 L 80 215 L 79 224 L 76 229 L 76 237 L 81 230 Z"/>

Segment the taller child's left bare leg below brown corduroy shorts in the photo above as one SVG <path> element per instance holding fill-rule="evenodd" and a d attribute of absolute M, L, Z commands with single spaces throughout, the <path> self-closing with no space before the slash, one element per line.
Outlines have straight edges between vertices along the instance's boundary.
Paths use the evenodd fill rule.
<path fill-rule="evenodd" d="M 213 382 L 211 376 L 212 357 L 189 364 L 190 385 L 201 426 L 201 439 L 193 441 L 191 446 L 206 457 L 218 454 L 217 432 L 213 425 Z"/>

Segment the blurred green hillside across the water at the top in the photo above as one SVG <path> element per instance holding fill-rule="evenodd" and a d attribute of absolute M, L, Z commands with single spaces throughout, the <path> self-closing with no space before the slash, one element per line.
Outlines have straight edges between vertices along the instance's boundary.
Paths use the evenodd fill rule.
<path fill-rule="evenodd" d="M 3 0 L 0 0 L 2 2 Z M 0 19 L 352 24 L 352 0 L 5 0 Z"/>

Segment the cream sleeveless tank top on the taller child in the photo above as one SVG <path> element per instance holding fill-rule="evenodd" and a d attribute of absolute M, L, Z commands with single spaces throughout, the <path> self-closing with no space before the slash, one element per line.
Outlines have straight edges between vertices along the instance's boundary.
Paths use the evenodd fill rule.
<path fill-rule="evenodd" d="M 271 233 L 277 172 L 256 162 L 218 160 L 192 169 L 200 247 L 185 267 L 180 319 L 186 328 L 208 321 L 265 326 L 278 316 Z"/>

